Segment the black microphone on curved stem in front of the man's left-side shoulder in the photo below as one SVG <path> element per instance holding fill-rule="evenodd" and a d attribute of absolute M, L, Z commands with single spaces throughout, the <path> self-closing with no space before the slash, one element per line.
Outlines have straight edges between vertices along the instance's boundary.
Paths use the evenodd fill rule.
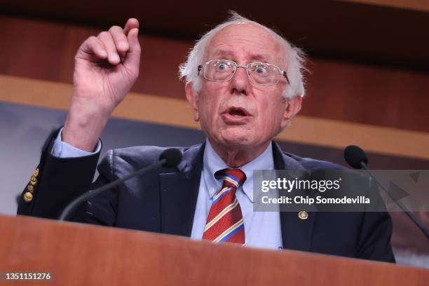
<path fill-rule="evenodd" d="M 164 168 L 175 168 L 177 165 L 179 165 L 180 161 L 182 161 L 182 152 L 179 151 L 179 149 L 165 149 L 163 153 L 161 153 L 161 155 L 159 156 L 159 161 L 152 163 L 151 165 L 148 165 L 140 170 L 132 172 L 130 175 L 126 175 L 125 177 L 117 179 L 114 182 L 110 182 L 109 184 L 100 186 L 100 188 L 94 189 L 92 191 L 87 191 L 86 193 L 83 193 L 81 196 L 72 200 L 71 203 L 69 203 L 67 207 L 65 207 L 64 210 L 61 212 L 59 220 L 64 221 L 65 219 L 67 219 L 69 213 L 71 212 L 71 210 L 74 210 L 74 207 L 76 207 L 76 205 L 79 205 L 84 200 L 87 200 L 90 197 L 97 196 L 99 193 L 102 193 L 107 189 L 117 186 L 118 184 L 121 184 L 122 182 L 125 182 L 132 177 L 142 175 L 145 172 L 148 172 L 149 170 L 153 170 L 160 166 L 163 166 Z"/>

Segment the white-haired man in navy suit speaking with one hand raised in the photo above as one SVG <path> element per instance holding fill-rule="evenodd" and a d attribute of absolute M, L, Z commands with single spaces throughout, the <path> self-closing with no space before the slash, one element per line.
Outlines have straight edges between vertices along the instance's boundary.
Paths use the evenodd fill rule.
<path fill-rule="evenodd" d="M 64 128 L 43 148 L 18 214 L 57 218 L 81 193 L 158 160 L 160 147 L 111 150 L 91 185 L 100 135 L 138 76 L 138 22 L 87 39 L 76 54 Z M 254 212 L 253 170 L 340 168 L 280 150 L 272 139 L 301 109 L 303 57 L 240 15 L 203 36 L 180 67 L 205 144 L 181 148 L 175 170 L 158 168 L 91 198 L 74 220 L 190 236 L 215 243 L 288 248 L 395 261 L 386 212 Z"/>

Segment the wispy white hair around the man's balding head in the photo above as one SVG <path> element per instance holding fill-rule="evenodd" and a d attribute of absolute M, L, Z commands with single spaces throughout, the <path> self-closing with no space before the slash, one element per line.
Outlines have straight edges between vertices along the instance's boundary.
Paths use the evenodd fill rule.
<path fill-rule="evenodd" d="M 287 62 L 286 72 L 290 84 L 288 84 L 285 88 L 283 96 L 285 98 L 292 98 L 296 96 L 304 97 L 304 52 L 301 49 L 292 46 L 289 41 L 274 32 L 272 29 L 265 27 L 258 22 L 254 22 L 252 20 L 244 18 L 243 16 L 239 15 L 234 11 L 231 11 L 230 13 L 231 17 L 229 19 L 217 25 L 209 32 L 205 33 L 198 41 L 196 41 L 195 46 L 193 46 L 193 48 L 189 52 L 186 62 L 180 64 L 179 66 L 180 79 L 184 79 L 186 83 L 191 83 L 193 90 L 195 90 L 196 93 L 200 93 L 201 77 L 198 76 L 198 65 L 203 64 L 205 50 L 207 48 L 207 45 L 212 40 L 213 36 L 217 34 L 217 32 L 219 32 L 220 30 L 230 25 L 251 23 L 253 25 L 257 25 L 266 29 L 266 31 L 270 33 L 274 37 L 274 39 L 278 41 L 278 43 L 280 43 L 283 53 L 285 53 L 285 59 Z"/>

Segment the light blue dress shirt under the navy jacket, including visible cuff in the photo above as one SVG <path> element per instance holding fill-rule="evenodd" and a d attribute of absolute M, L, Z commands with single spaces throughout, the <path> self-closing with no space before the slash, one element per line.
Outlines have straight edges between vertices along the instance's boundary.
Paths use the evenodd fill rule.
<path fill-rule="evenodd" d="M 61 140 L 61 132 L 55 139 L 52 154 L 60 158 L 72 158 L 89 156 L 101 149 L 100 141 L 94 153 L 77 149 Z M 209 140 L 206 140 L 204 150 L 203 170 L 201 171 L 200 189 L 196 203 L 195 215 L 191 238 L 201 240 L 205 223 L 207 221 L 212 198 L 222 188 L 222 177 L 215 177 L 214 173 L 229 168 L 222 158 L 213 150 Z M 254 212 L 253 211 L 253 170 L 274 170 L 273 147 L 268 144 L 266 150 L 253 161 L 243 165 L 242 170 L 247 179 L 243 186 L 236 192 L 238 203 L 240 203 L 245 226 L 245 246 L 279 249 L 282 247 L 282 231 L 280 228 L 279 212 Z"/>

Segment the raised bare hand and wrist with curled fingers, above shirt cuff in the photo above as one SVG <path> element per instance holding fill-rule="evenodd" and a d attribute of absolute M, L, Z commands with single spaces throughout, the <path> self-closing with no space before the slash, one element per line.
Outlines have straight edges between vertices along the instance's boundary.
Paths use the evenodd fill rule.
<path fill-rule="evenodd" d="M 90 36 L 76 53 L 74 92 L 62 140 L 93 151 L 111 112 L 125 98 L 139 74 L 137 19 Z"/>

